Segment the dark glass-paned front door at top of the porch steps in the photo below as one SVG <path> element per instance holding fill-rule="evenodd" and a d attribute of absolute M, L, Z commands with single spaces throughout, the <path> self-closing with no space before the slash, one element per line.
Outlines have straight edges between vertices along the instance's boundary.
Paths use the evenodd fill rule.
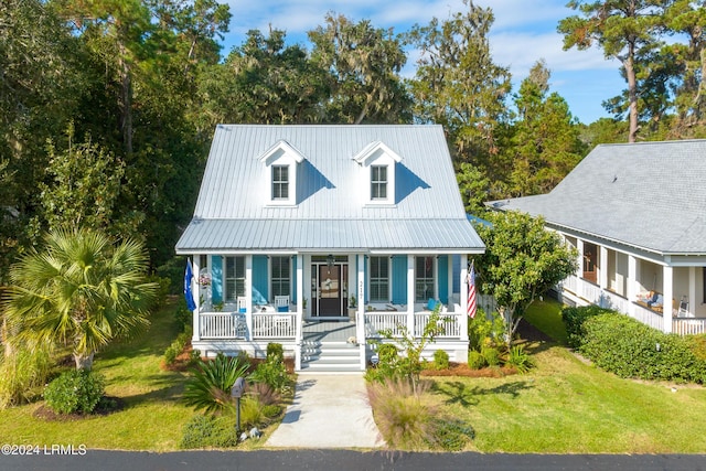
<path fill-rule="evenodd" d="M 327 264 L 311 267 L 311 285 L 315 289 L 312 292 L 314 302 L 312 314 L 320 318 L 338 318 L 344 314 L 344 265 Z"/>

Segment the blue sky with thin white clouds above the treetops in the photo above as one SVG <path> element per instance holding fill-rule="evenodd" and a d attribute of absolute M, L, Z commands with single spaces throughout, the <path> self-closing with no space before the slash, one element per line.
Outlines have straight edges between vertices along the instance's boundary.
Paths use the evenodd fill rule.
<path fill-rule="evenodd" d="M 608 61 L 598 49 L 563 51 L 563 36 L 556 32 L 559 20 L 574 14 L 565 7 L 568 0 L 477 0 L 490 7 L 495 15 L 490 44 L 493 61 L 510 67 L 513 92 L 528 74 L 532 65 L 544 58 L 552 71 L 550 86 L 568 103 L 574 116 L 582 122 L 608 116 L 601 103 L 624 87 L 619 64 Z M 289 43 L 307 46 L 306 32 L 323 24 L 327 12 L 344 14 L 353 21 L 371 20 L 375 28 L 408 31 L 415 24 L 426 25 L 431 18 L 445 20 L 463 11 L 462 0 L 228 0 L 233 20 L 224 41 L 224 53 L 242 44 L 245 33 L 270 25 L 287 32 Z M 414 74 L 416 53 L 409 52 L 406 74 Z"/>

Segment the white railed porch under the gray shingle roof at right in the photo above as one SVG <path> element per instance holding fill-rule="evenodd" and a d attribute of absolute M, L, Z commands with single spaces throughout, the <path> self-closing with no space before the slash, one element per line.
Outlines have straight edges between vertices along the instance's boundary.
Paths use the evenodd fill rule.
<path fill-rule="evenodd" d="M 579 267 L 560 285 L 568 300 L 614 309 L 663 332 L 706 332 L 706 257 L 564 238 L 577 249 Z"/>

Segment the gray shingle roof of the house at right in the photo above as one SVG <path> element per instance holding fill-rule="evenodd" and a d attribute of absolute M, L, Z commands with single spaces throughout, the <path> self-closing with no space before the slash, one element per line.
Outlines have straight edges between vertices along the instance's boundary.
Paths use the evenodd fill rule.
<path fill-rule="evenodd" d="M 550 193 L 489 203 L 661 254 L 706 254 L 706 140 L 603 144 Z"/>

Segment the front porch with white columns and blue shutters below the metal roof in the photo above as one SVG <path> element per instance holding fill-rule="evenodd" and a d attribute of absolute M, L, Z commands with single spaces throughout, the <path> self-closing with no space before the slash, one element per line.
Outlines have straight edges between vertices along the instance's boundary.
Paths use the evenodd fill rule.
<path fill-rule="evenodd" d="M 364 371 L 367 340 L 383 329 L 420 336 L 436 303 L 445 332 L 432 345 L 466 361 L 467 256 L 461 254 L 194 254 L 194 349 L 264 356 L 281 343 L 307 367 L 312 341 L 355 349 Z M 425 352 L 431 357 L 434 351 Z"/>

